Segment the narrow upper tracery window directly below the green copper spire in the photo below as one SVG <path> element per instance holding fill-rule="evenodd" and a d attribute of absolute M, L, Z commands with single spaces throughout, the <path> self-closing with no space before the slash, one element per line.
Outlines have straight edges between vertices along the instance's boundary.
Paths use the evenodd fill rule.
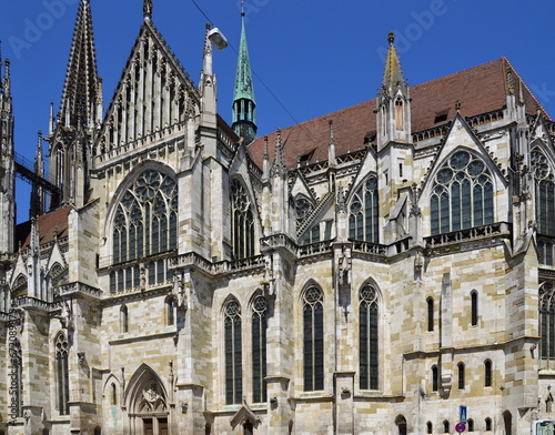
<path fill-rule="evenodd" d="M 236 179 L 231 181 L 232 241 L 234 259 L 254 255 L 254 214 L 245 189 Z"/>

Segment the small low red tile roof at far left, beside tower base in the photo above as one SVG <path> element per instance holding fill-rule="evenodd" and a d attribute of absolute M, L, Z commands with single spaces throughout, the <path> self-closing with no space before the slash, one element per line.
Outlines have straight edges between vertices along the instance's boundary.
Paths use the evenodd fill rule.
<path fill-rule="evenodd" d="M 53 212 L 43 214 L 37 218 L 39 223 L 40 244 L 53 242 L 54 239 L 65 237 L 68 235 L 68 215 L 72 206 L 68 205 L 63 209 L 54 210 Z M 27 221 L 17 225 L 16 243 L 21 243 L 21 249 L 24 250 L 31 242 L 31 221 Z"/>

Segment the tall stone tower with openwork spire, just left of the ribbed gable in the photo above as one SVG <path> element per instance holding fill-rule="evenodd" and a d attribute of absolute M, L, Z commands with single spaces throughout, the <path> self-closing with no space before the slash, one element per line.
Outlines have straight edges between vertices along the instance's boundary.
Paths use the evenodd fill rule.
<path fill-rule="evenodd" d="M 50 120 L 50 180 L 61 190 L 59 203 L 51 201 L 52 209 L 87 202 L 91 148 L 102 111 L 91 6 L 89 0 L 81 0 L 60 111 L 56 121 Z"/>

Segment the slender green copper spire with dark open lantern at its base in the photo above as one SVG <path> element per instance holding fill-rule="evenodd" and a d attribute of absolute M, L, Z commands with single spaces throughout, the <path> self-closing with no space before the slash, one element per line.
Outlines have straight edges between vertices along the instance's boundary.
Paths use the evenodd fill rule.
<path fill-rule="evenodd" d="M 233 130 L 244 139 L 246 144 L 256 138 L 256 102 L 252 85 L 251 62 L 246 48 L 246 32 L 244 28 L 244 11 L 241 12 L 241 43 L 239 48 L 238 71 L 235 74 L 235 90 L 233 92 Z"/>

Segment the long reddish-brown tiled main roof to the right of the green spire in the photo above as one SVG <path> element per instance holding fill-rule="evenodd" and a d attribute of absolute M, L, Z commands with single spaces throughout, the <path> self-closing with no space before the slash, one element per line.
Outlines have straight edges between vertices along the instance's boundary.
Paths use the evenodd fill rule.
<path fill-rule="evenodd" d="M 446 114 L 446 120 L 455 115 L 455 102 L 461 101 L 461 113 L 474 117 L 501 110 L 506 107 L 508 92 L 507 68 L 514 72 L 506 58 L 501 58 L 451 75 L 411 87 L 411 118 L 414 133 L 438 127 L 445 121 L 435 122 L 436 117 Z M 515 92 L 518 92 L 519 77 L 514 72 Z M 526 113 L 535 114 L 539 107 L 543 115 L 551 117 L 523 83 L 523 98 Z M 350 108 L 315 118 L 282 130 L 285 164 L 296 168 L 297 156 L 313 153 L 310 163 L 327 160 L 329 121 L 333 120 L 336 155 L 346 154 L 367 145 L 369 134 L 376 131 L 376 101 L 370 100 Z M 275 133 L 269 135 L 270 160 L 274 160 Z M 249 145 L 253 160 L 262 168 L 264 139 L 259 138 Z"/>

